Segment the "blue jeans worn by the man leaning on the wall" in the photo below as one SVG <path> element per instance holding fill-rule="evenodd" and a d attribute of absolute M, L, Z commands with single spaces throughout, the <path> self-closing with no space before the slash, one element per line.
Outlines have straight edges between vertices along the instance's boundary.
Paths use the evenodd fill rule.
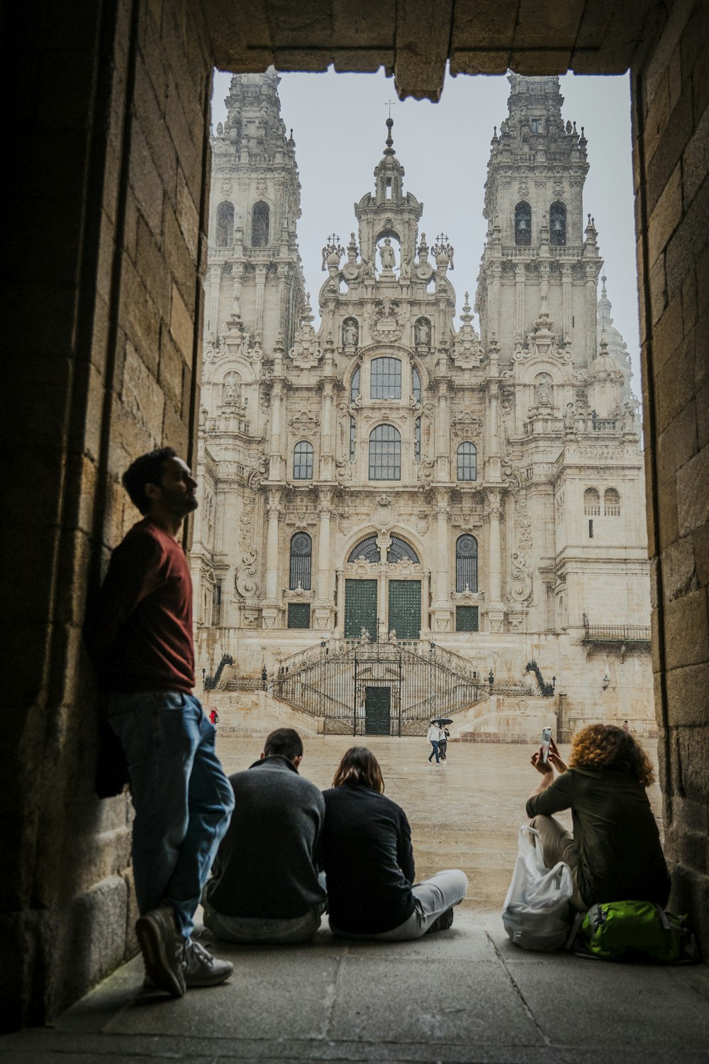
<path fill-rule="evenodd" d="M 180 692 L 107 696 L 135 808 L 133 877 L 139 912 L 171 905 L 178 931 L 195 927 L 212 862 L 234 809 L 202 703 Z"/>

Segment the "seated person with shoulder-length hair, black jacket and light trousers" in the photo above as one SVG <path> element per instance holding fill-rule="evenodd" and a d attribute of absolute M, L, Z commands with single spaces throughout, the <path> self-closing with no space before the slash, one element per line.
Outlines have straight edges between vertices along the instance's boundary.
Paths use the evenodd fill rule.
<path fill-rule="evenodd" d="M 331 930 L 344 937 L 419 938 L 453 922 L 466 897 L 459 869 L 413 883 L 411 829 L 404 810 L 384 797 L 371 750 L 352 747 L 324 792 L 322 853 Z"/>

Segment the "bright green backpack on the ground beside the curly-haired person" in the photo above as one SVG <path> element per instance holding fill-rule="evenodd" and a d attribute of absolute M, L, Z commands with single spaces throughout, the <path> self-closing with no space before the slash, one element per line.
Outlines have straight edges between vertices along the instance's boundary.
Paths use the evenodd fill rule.
<path fill-rule="evenodd" d="M 576 952 L 606 961 L 681 964 L 698 960 L 686 918 L 665 913 L 653 901 L 591 905 L 587 913 L 579 913 L 576 931 Z"/>

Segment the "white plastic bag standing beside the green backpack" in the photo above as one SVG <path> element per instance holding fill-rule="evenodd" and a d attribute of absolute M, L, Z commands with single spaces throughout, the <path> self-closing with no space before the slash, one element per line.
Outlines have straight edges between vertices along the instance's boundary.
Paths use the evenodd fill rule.
<path fill-rule="evenodd" d="M 536 844 L 536 845 L 535 845 Z M 574 881 L 563 861 L 544 866 L 539 832 L 523 824 L 512 881 L 502 919 L 507 934 L 522 949 L 553 950 L 565 945 L 571 925 Z"/>

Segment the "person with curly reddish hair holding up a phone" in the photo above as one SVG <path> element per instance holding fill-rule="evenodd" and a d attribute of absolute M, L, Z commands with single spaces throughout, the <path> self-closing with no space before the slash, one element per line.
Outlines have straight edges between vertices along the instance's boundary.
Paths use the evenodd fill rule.
<path fill-rule="evenodd" d="M 602 901 L 665 905 L 670 877 L 645 793 L 653 766 L 629 732 L 589 725 L 574 735 L 568 766 L 553 741 L 548 760 L 542 761 L 539 750 L 531 764 L 541 780 L 527 799 L 527 816 L 541 835 L 546 867 L 564 861 L 571 868 L 572 904 L 578 910 Z M 552 815 L 563 809 L 571 810 L 573 835 Z"/>

